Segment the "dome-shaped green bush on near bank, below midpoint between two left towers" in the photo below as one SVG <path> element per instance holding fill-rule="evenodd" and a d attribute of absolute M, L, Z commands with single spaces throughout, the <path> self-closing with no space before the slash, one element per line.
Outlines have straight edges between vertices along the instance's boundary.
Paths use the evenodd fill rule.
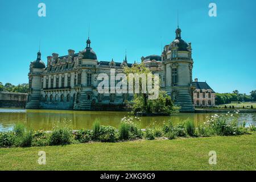
<path fill-rule="evenodd" d="M 57 126 L 49 136 L 49 145 L 64 145 L 72 143 L 72 130 L 68 126 Z"/>

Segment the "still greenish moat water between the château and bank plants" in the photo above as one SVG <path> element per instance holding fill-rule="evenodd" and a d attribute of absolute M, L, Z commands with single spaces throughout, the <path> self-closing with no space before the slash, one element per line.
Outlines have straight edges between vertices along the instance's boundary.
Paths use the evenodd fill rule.
<path fill-rule="evenodd" d="M 155 123 L 163 125 L 164 121 L 171 119 L 179 123 L 184 119 L 191 119 L 196 125 L 207 121 L 216 113 L 177 113 L 171 116 L 141 117 L 140 125 L 145 128 Z M 217 113 L 220 114 L 220 113 Z M 72 110 L 25 110 L 25 109 L 0 109 L 0 131 L 13 130 L 15 123 L 24 123 L 34 130 L 51 130 L 56 122 L 69 121 L 73 129 L 91 129 L 95 119 L 100 119 L 101 125 L 118 127 L 121 119 L 129 117 L 129 113 L 120 111 L 72 111 Z M 132 116 L 132 115 L 130 115 Z M 247 125 L 256 125 L 256 113 L 241 113 L 239 121 Z"/>

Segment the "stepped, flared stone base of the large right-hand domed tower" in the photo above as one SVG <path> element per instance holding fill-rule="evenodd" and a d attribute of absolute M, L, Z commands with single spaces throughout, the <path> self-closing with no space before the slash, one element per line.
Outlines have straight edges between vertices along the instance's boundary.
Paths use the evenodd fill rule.
<path fill-rule="evenodd" d="M 195 111 L 195 107 L 192 103 L 192 97 L 189 94 L 189 91 L 187 88 L 180 89 L 179 92 L 177 92 L 175 104 L 178 106 L 181 106 L 181 109 L 180 109 L 181 112 Z"/>

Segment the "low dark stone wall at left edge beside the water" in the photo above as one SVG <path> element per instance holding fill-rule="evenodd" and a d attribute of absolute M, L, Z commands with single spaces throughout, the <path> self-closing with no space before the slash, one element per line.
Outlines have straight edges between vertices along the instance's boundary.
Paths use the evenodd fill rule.
<path fill-rule="evenodd" d="M 0 107 L 25 107 L 27 93 L 0 92 Z"/>

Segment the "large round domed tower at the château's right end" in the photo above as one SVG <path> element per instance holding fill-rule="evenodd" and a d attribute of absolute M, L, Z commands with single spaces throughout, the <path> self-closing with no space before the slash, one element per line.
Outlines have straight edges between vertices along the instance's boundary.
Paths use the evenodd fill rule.
<path fill-rule="evenodd" d="M 170 45 L 164 47 L 162 61 L 166 75 L 166 91 L 181 106 L 181 111 L 195 111 L 192 96 L 191 43 L 181 39 L 181 29 L 176 31 L 176 38 Z"/>

